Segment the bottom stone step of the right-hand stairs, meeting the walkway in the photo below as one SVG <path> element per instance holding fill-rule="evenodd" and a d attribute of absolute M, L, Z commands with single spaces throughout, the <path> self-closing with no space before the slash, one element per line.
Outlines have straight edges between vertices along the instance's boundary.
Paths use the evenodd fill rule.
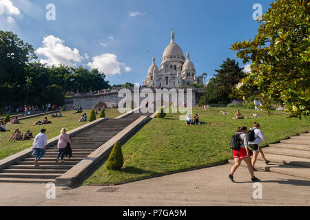
<path fill-rule="evenodd" d="M 234 164 L 234 159 L 229 159 L 229 164 Z M 244 162 L 241 163 L 241 166 L 246 166 Z M 309 168 L 302 168 L 300 166 L 291 166 L 287 164 L 278 164 L 278 163 L 269 163 L 265 164 L 265 162 L 261 160 L 257 160 L 255 164 L 255 168 L 257 170 L 265 170 L 273 173 L 281 173 L 284 175 L 290 175 L 293 177 L 300 177 L 304 179 L 310 179 Z M 256 172 L 254 173 L 256 174 Z"/>

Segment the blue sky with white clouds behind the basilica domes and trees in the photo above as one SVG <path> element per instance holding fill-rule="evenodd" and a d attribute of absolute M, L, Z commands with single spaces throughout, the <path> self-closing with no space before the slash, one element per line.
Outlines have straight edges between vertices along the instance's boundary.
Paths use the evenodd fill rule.
<path fill-rule="evenodd" d="M 254 39 L 253 15 L 271 0 L 0 0 L 0 30 L 30 43 L 47 65 L 83 66 L 104 72 L 111 85 L 143 83 L 174 30 L 184 56 L 189 52 L 197 76 L 209 77 L 236 41 Z M 246 66 L 246 69 L 247 66 Z"/>

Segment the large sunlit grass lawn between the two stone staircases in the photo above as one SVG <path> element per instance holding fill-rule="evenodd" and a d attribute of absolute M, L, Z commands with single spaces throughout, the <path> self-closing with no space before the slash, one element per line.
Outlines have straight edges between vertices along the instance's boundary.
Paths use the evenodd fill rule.
<path fill-rule="evenodd" d="M 101 166 L 84 184 L 116 184 L 123 181 L 141 179 L 152 175 L 171 173 L 223 162 L 232 157 L 229 142 L 239 126 L 248 129 L 254 122 L 260 123 L 260 129 L 268 142 L 276 142 L 285 137 L 310 130 L 309 120 L 288 118 L 286 113 L 240 109 L 249 119 L 234 120 L 236 108 L 211 108 L 205 111 L 194 108 L 203 125 L 186 126 L 178 120 L 178 113 L 167 114 L 165 119 L 154 119 L 146 124 L 123 147 L 124 166 L 120 171 L 107 170 Z M 220 111 L 229 112 L 228 115 Z M 250 118 L 260 113 L 260 118 Z"/>

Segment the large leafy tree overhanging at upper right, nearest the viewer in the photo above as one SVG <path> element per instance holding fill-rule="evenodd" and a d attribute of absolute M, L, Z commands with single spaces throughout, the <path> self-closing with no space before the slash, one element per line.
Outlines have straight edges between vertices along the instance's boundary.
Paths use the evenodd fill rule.
<path fill-rule="evenodd" d="M 279 102 L 300 119 L 310 112 L 309 17 L 309 1 L 278 0 L 260 19 L 253 41 L 231 45 L 243 63 L 251 62 L 245 80 L 254 78 L 264 107 Z"/>

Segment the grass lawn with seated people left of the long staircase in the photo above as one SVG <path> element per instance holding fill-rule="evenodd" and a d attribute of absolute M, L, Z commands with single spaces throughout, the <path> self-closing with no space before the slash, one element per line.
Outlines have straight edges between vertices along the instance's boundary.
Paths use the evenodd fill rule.
<path fill-rule="evenodd" d="M 15 129 L 19 128 L 21 133 L 24 133 L 26 130 L 30 130 L 33 135 L 37 135 L 41 129 L 46 129 L 46 135 L 48 135 L 48 139 L 52 137 L 56 137 L 59 135 L 61 128 L 65 127 L 68 131 L 75 129 L 78 126 L 82 126 L 88 122 L 79 123 L 78 120 L 81 118 L 83 113 L 87 113 L 87 116 L 90 115 L 90 110 L 85 110 L 83 113 L 73 114 L 74 111 L 65 111 L 63 112 L 63 118 L 50 118 L 50 115 L 39 116 L 35 118 L 21 120 L 21 124 L 6 124 L 6 129 L 10 130 L 10 132 L 0 132 L 0 159 L 4 159 L 10 155 L 15 153 L 19 153 L 27 148 L 32 146 L 32 140 L 21 141 L 13 141 L 8 142 L 10 135 L 15 131 Z M 107 118 L 116 118 L 121 113 L 118 112 L 118 109 L 107 109 L 105 111 L 105 117 Z M 48 120 L 52 122 L 52 124 L 45 124 L 42 126 L 33 124 L 39 120 L 43 120 L 43 118 L 47 116 Z M 98 118 L 99 115 L 96 115 Z"/>

